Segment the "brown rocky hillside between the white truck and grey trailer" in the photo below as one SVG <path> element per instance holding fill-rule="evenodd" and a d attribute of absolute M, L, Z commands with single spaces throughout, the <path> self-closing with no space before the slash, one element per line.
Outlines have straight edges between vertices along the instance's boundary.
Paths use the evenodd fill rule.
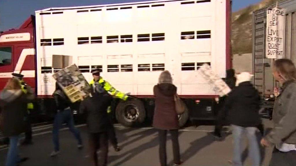
<path fill-rule="evenodd" d="M 232 54 L 252 53 L 252 12 L 282 0 L 262 0 L 232 13 Z"/>

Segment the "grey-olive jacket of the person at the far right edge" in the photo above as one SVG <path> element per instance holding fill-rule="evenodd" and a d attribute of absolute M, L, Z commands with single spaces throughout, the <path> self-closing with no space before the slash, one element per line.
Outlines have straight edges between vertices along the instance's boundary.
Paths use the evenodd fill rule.
<path fill-rule="evenodd" d="M 274 129 L 266 136 L 271 144 L 296 144 L 296 83 L 283 84 L 273 111 Z"/>

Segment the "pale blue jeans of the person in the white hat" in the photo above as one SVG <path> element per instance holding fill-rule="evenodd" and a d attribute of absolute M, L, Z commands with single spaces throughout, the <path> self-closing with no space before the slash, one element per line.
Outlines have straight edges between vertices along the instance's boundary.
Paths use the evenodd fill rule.
<path fill-rule="evenodd" d="M 249 155 L 252 159 L 253 166 L 260 165 L 260 151 L 259 143 L 256 137 L 256 127 L 241 127 L 236 125 L 232 126 L 232 136 L 234 139 L 234 152 L 233 152 L 233 165 L 242 166 L 242 135 L 244 131 L 247 133 L 248 145 L 249 145 Z"/>

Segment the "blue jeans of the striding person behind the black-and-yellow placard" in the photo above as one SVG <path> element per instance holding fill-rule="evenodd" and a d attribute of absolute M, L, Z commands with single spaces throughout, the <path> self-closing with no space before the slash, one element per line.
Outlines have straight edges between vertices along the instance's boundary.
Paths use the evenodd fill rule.
<path fill-rule="evenodd" d="M 80 132 L 74 126 L 74 120 L 71 109 L 66 108 L 63 111 L 57 112 L 57 114 L 54 117 L 52 140 L 54 143 L 55 151 L 59 151 L 59 129 L 62 127 L 63 123 L 67 123 L 69 130 L 74 134 L 75 138 L 78 140 L 78 144 L 82 144 Z"/>

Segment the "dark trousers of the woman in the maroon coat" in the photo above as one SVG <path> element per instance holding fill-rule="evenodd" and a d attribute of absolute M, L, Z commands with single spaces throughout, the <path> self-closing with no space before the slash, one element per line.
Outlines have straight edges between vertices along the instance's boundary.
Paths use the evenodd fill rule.
<path fill-rule="evenodd" d="M 174 156 L 174 163 L 180 164 L 180 147 L 179 147 L 179 140 L 178 140 L 178 130 L 169 130 L 172 143 L 173 143 L 173 156 Z M 167 156 L 166 156 L 166 138 L 167 138 L 167 130 L 160 130 L 158 129 L 158 137 L 159 137 L 159 159 L 160 165 L 166 166 L 167 165 Z"/>

